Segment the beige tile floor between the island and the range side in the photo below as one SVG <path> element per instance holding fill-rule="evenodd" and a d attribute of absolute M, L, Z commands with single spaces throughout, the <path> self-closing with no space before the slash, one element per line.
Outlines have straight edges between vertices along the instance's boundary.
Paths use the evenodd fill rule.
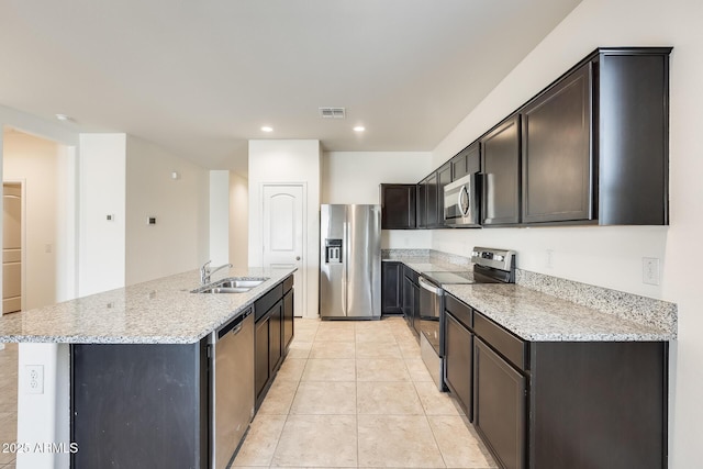
<path fill-rule="evenodd" d="M 495 468 L 399 317 L 295 320 L 234 467 Z"/>

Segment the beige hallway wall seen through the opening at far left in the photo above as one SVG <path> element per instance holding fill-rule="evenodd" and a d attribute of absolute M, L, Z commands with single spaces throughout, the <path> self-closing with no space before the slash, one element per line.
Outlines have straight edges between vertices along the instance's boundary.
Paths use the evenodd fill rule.
<path fill-rule="evenodd" d="M 22 132 L 5 132 L 3 180 L 23 183 L 24 236 L 22 282 L 24 310 L 56 302 L 58 158 L 60 146 Z"/>

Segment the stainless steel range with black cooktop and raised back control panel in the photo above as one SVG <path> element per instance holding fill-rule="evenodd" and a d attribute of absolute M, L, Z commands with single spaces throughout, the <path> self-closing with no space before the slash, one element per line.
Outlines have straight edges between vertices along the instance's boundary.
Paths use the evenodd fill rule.
<path fill-rule="evenodd" d="M 423 361 L 439 390 L 444 384 L 444 286 L 460 283 L 514 283 L 515 252 L 475 247 L 472 271 L 424 271 L 420 275 L 420 348 Z"/>

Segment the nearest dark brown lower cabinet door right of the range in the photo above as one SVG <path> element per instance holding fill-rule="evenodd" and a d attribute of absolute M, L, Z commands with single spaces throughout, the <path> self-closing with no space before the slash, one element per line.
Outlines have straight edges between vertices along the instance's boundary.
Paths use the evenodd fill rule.
<path fill-rule="evenodd" d="M 505 469 L 525 467 L 527 379 L 473 339 L 473 425 Z"/>

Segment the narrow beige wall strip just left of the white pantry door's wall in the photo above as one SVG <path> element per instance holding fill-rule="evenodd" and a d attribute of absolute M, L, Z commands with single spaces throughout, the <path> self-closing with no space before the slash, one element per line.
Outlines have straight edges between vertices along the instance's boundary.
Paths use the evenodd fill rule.
<path fill-rule="evenodd" d="M 249 264 L 249 183 L 246 178 L 230 172 L 230 264 Z"/>

